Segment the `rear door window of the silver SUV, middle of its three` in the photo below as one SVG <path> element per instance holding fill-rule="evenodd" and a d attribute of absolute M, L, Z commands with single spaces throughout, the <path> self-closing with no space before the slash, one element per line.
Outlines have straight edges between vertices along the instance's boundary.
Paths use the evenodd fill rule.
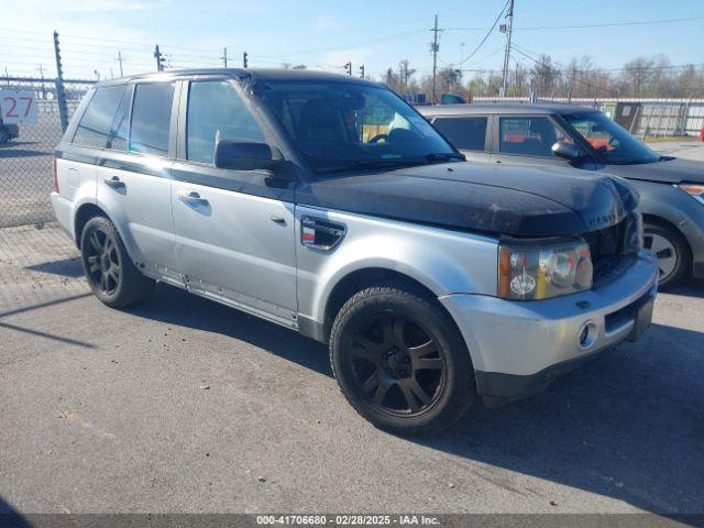
<path fill-rule="evenodd" d="M 174 101 L 174 85 L 136 85 L 132 103 L 130 152 L 168 154 L 168 132 Z"/>

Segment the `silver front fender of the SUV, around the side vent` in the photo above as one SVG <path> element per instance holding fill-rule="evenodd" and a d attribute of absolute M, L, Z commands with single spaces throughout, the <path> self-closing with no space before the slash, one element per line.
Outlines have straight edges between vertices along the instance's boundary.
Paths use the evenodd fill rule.
<path fill-rule="evenodd" d="M 361 270 L 382 268 L 406 275 L 436 296 L 496 293 L 497 241 L 387 219 L 296 208 L 300 219 L 312 216 L 345 227 L 342 242 L 329 252 L 297 244 L 299 312 L 322 323 L 334 287 Z"/>

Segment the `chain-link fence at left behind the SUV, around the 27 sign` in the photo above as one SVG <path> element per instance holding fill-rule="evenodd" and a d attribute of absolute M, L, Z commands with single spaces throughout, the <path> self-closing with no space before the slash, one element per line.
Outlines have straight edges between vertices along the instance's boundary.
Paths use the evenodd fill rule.
<path fill-rule="evenodd" d="M 90 84 L 67 82 L 70 118 Z M 0 316 L 22 306 L 85 290 L 78 252 L 54 222 L 54 148 L 62 139 L 56 86 L 42 79 L 3 79 L 1 89 L 34 94 L 36 123 L 0 144 Z"/>

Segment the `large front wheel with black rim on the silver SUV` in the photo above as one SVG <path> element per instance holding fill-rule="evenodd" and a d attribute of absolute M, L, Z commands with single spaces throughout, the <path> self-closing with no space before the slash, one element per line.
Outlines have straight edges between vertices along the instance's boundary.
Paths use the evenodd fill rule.
<path fill-rule="evenodd" d="M 438 432 L 476 400 L 459 330 L 413 288 L 370 287 L 350 298 L 332 326 L 330 358 L 352 407 L 389 432 Z"/>

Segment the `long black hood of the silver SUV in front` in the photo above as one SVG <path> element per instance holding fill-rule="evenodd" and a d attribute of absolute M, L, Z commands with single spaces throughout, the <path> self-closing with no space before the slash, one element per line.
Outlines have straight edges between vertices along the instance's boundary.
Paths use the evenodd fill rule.
<path fill-rule="evenodd" d="M 628 185 L 609 176 L 469 162 L 327 176 L 301 183 L 296 201 L 514 237 L 595 231 L 637 207 Z"/>

